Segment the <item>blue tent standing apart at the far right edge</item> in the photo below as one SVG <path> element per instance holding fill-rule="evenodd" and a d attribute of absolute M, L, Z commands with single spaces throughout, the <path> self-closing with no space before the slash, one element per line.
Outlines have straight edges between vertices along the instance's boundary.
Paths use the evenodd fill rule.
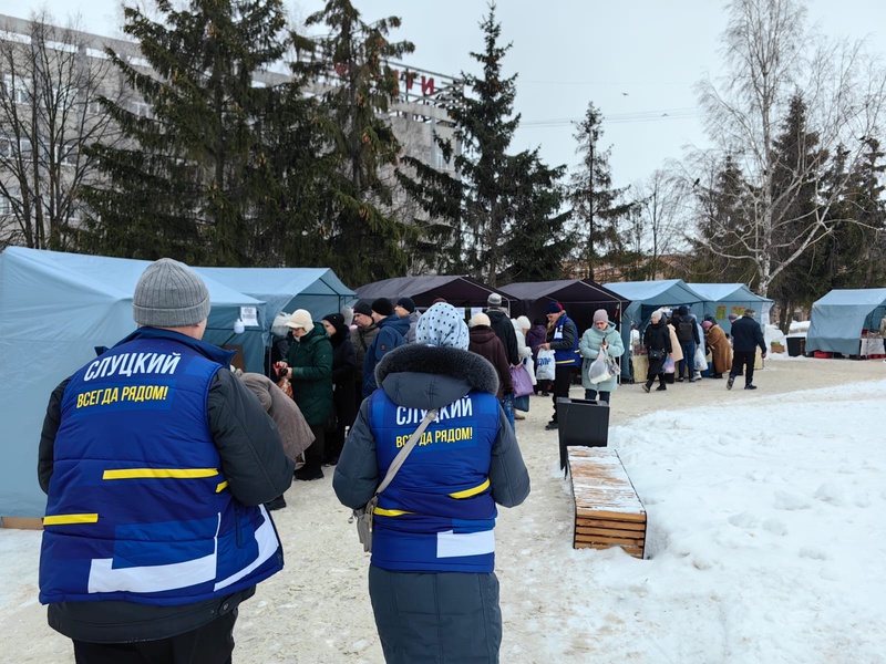
<path fill-rule="evenodd" d="M 832 290 L 812 304 L 806 352 L 861 354 L 862 330 L 877 330 L 886 314 L 886 288 Z"/>

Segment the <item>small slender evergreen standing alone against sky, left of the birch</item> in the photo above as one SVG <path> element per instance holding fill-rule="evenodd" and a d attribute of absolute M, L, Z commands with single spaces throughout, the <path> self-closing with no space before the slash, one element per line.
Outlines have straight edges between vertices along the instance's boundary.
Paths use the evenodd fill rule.
<path fill-rule="evenodd" d="M 619 203 L 627 187 L 612 188 L 611 147 L 600 148 L 602 115 L 593 103 L 588 104 L 585 118 L 576 128 L 576 153 L 581 155 L 581 164 L 571 177 L 569 201 L 577 222 L 575 237 L 581 241 L 576 246 L 575 258 L 578 264 L 585 266 L 588 279 L 594 279 L 594 269 L 601 259 L 620 262 L 618 257 L 625 258 L 618 222 L 627 218 L 631 205 Z"/>

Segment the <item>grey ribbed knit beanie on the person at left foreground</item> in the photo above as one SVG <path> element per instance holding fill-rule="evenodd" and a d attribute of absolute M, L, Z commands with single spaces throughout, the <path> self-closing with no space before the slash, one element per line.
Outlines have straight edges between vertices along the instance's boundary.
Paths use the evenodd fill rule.
<path fill-rule="evenodd" d="M 184 328 L 209 315 L 209 291 L 194 271 L 172 258 L 154 261 L 142 273 L 132 297 L 132 318 L 140 325 Z"/>

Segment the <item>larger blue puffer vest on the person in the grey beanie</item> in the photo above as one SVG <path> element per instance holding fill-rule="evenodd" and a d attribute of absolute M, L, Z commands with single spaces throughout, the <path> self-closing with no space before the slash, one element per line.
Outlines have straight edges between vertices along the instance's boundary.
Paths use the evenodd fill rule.
<path fill-rule="evenodd" d="M 226 488 L 209 433 L 207 395 L 224 355 L 148 329 L 71 378 L 43 522 L 41 603 L 189 604 L 282 568 L 270 517 Z"/>

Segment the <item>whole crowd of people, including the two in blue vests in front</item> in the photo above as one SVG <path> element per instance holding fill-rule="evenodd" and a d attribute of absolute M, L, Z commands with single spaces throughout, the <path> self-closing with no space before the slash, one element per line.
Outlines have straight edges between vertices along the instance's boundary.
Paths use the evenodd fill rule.
<path fill-rule="evenodd" d="M 516 421 L 580 371 L 586 400 L 618 388 L 621 334 L 606 310 L 581 334 L 559 302 L 511 319 L 498 293 L 465 321 L 445 301 L 358 301 L 275 325 L 265 373 L 203 341 L 203 280 L 161 259 L 133 295 L 135 332 L 50 396 L 38 478 L 48 495 L 40 601 L 79 663 L 230 662 L 238 606 L 284 564 L 271 511 L 292 479 L 334 467 L 338 499 L 374 519 L 369 594 L 385 661 L 497 662 L 497 506 L 529 494 Z M 701 324 L 658 310 L 643 333 L 666 390 L 713 377 L 754 390 L 753 311 Z M 732 359 L 734 356 L 734 360 Z M 414 452 L 413 452 L 414 450 Z"/>

